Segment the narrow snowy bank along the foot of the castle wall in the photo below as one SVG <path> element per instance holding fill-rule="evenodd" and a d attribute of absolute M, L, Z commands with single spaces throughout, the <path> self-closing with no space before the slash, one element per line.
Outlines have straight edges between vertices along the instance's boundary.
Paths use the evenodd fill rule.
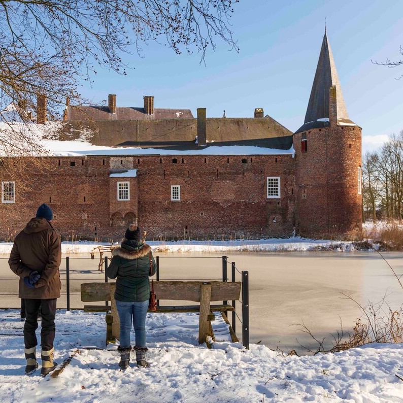
<path fill-rule="evenodd" d="M 155 252 L 301 252 L 314 250 L 337 250 L 337 251 L 354 251 L 358 250 L 353 242 L 348 241 L 330 241 L 330 240 L 313 240 L 300 237 L 291 238 L 270 238 L 260 240 L 238 239 L 233 241 L 146 241 Z M 100 245 L 108 245 L 103 243 L 94 243 L 87 241 L 79 242 L 63 242 L 62 253 L 90 253 L 94 248 Z M 8 242 L 0 243 L 0 254 L 9 254 L 13 244 Z"/>

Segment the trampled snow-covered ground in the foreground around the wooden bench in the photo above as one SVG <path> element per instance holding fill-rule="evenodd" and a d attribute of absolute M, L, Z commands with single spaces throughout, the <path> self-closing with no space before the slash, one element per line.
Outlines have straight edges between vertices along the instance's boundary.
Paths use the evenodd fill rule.
<path fill-rule="evenodd" d="M 56 317 L 55 358 L 62 362 L 77 349 L 79 353 L 52 379 L 42 378 L 39 371 L 23 375 L 19 313 L 0 311 L 0 322 L 0 392 L 5 403 L 403 402 L 403 381 L 397 377 L 403 378 L 401 344 L 284 357 L 264 346 L 252 344 L 245 350 L 240 343 L 230 343 L 225 323 L 215 321 L 221 341 L 210 350 L 197 345 L 194 314 L 149 314 L 152 366 L 138 368 L 131 362 L 121 372 L 116 346 L 103 349 L 105 315 L 62 310 Z"/>

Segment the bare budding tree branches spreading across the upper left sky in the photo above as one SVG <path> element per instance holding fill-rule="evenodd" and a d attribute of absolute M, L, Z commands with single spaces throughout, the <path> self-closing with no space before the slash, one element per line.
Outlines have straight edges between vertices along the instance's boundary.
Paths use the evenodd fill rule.
<path fill-rule="evenodd" d="M 238 51 L 230 29 L 239 0 L 0 0 L 0 110 L 24 99 L 48 98 L 56 114 L 66 97 L 82 103 L 81 79 L 97 67 L 126 74 L 122 53 L 155 41 L 180 54 L 224 41 Z"/>

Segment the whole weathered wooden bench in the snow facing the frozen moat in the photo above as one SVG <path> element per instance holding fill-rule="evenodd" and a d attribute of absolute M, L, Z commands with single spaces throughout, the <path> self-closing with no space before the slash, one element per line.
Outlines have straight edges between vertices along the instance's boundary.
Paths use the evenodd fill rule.
<path fill-rule="evenodd" d="M 211 305 L 211 301 L 239 300 L 241 282 L 200 282 L 200 281 L 155 281 L 154 290 L 158 300 L 194 301 L 199 305 L 190 306 L 158 306 L 154 312 L 198 312 L 200 344 L 208 341 L 208 336 L 214 340 L 211 321 L 212 312 L 221 312 L 225 322 L 229 325 L 227 312 L 234 311 L 229 304 Z M 111 301 L 111 306 L 85 305 L 87 312 L 107 312 L 106 344 L 119 340 L 119 315 L 115 303 L 115 283 L 83 283 L 81 284 L 81 300 L 86 303 L 96 301 Z M 233 342 L 239 342 L 237 335 L 229 325 L 229 332 Z"/>

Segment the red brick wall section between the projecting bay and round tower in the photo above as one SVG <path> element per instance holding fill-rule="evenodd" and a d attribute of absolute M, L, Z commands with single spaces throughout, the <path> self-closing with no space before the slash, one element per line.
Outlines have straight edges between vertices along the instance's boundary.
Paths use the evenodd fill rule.
<path fill-rule="evenodd" d="M 290 236 L 293 175 L 289 155 L 144 158 L 140 224 L 149 236 L 162 238 Z M 267 176 L 281 177 L 281 199 L 267 199 Z M 180 201 L 171 201 L 172 185 L 180 186 Z"/>

